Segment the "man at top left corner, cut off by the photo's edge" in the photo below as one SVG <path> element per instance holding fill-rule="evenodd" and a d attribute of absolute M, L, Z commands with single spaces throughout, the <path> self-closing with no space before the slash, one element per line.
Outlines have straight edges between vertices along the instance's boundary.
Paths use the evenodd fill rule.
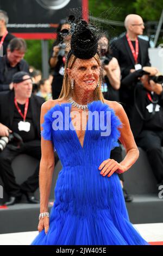
<path fill-rule="evenodd" d="M 7 24 L 9 22 L 8 14 L 0 10 L 0 56 L 7 53 L 7 47 L 9 42 L 15 36 L 7 31 Z"/>

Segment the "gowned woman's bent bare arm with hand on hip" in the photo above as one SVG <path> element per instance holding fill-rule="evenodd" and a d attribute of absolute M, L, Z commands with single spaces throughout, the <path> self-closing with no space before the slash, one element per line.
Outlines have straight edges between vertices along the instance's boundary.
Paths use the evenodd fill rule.
<path fill-rule="evenodd" d="M 106 100 L 105 100 L 106 101 Z M 129 120 L 127 117 L 126 112 L 124 111 L 122 105 L 117 102 L 109 102 L 109 106 L 112 107 L 115 111 L 115 114 L 122 122 L 122 128 L 120 129 L 121 136 L 120 142 L 123 144 L 124 148 L 126 149 L 126 157 L 124 157 L 123 161 L 118 163 L 114 159 L 107 159 L 101 163 L 99 169 L 101 170 L 101 174 L 103 176 L 108 174 L 110 177 L 114 172 L 123 173 L 126 172 L 139 157 L 139 150 L 137 149 L 133 133 L 130 129 Z"/>

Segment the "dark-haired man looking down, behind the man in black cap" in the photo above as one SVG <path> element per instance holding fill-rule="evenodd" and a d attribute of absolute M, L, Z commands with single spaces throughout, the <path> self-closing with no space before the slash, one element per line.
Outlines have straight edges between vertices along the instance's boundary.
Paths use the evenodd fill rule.
<path fill-rule="evenodd" d="M 14 38 L 8 45 L 7 55 L 0 57 L 0 93 L 12 90 L 12 76 L 16 72 L 29 73 L 28 63 L 23 60 L 26 50 L 26 42 L 21 38 Z"/>

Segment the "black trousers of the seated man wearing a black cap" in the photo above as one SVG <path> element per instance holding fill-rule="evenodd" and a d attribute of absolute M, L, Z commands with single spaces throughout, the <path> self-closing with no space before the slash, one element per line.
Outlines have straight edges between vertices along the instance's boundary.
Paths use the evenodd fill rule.
<path fill-rule="evenodd" d="M 18 185 L 15 180 L 14 172 L 11 168 L 11 162 L 17 155 L 27 154 L 39 160 L 39 163 L 34 171 L 23 184 Z M 33 194 L 39 187 L 39 169 L 41 160 L 41 141 L 34 140 L 25 142 L 20 149 L 10 148 L 10 144 L 0 153 L 0 176 L 4 183 L 4 189 L 9 196 L 21 196 L 21 190 Z M 55 155 L 55 163 L 58 162 L 58 156 Z M 22 170 L 23 171 L 23 170 Z"/>

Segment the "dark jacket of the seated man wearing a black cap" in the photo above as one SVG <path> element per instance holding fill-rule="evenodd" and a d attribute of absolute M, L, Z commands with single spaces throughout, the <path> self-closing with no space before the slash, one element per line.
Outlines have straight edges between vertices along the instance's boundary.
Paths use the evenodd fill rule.
<path fill-rule="evenodd" d="M 30 97 L 31 111 L 33 116 L 33 123 L 37 132 L 37 137 L 40 139 L 40 113 L 41 105 L 45 100 L 42 97 L 33 95 Z M 14 91 L 0 95 L 0 123 L 8 126 L 11 129 L 14 118 Z"/>

